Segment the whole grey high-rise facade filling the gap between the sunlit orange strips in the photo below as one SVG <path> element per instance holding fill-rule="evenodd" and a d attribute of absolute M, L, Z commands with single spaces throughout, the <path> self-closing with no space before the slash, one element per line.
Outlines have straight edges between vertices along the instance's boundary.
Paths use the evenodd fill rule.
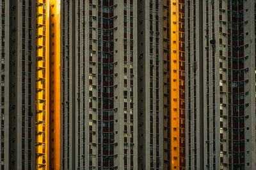
<path fill-rule="evenodd" d="M 161 7 L 61 1 L 61 168 L 163 168 Z"/>

